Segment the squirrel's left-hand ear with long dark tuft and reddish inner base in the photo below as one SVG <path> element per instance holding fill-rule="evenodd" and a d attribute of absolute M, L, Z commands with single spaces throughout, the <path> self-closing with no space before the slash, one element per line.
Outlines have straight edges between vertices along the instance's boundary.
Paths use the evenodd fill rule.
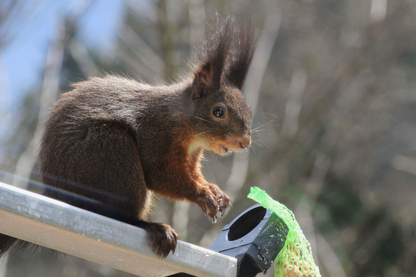
<path fill-rule="evenodd" d="M 233 43 L 233 18 L 227 15 L 220 20 L 215 13 L 208 22 L 205 39 L 198 48 L 193 69 L 196 83 L 201 89 L 208 86 L 219 88 L 221 76 L 228 59 L 228 53 Z"/>

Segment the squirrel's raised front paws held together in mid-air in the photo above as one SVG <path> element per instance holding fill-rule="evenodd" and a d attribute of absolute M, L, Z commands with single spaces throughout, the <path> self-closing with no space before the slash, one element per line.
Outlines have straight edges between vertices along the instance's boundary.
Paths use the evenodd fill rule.
<path fill-rule="evenodd" d="M 204 211 L 205 216 L 212 218 L 212 223 L 217 222 L 217 214 L 223 216 L 225 210 L 231 207 L 231 199 L 217 185 L 206 184 L 205 195 L 198 203 L 198 206 Z"/>

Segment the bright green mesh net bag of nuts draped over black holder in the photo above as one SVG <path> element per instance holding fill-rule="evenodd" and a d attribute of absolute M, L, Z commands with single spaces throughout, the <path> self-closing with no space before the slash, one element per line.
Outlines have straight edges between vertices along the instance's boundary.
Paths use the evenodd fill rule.
<path fill-rule="evenodd" d="M 247 197 L 272 210 L 289 228 L 285 246 L 275 260 L 275 277 L 321 277 L 312 257 L 311 246 L 302 233 L 293 212 L 256 186 L 250 189 Z"/>

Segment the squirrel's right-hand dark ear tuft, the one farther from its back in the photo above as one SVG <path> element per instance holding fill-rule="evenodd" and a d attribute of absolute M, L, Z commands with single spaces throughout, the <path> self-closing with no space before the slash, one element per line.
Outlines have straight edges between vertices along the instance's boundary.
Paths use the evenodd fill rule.
<path fill-rule="evenodd" d="M 253 60 L 257 36 L 250 20 L 242 20 L 225 78 L 240 90 L 244 86 L 248 68 Z"/>

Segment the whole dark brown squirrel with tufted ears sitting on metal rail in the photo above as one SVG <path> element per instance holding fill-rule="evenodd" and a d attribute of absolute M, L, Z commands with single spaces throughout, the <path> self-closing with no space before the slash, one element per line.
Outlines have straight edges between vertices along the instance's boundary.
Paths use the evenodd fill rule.
<path fill-rule="evenodd" d="M 252 25 L 237 28 L 226 17 L 207 28 L 178 83 L 154 86 L 119 76 L 75 83 L 45 123 L 42 194 L 144 228 L 155 252 L 173 254 L 175 230 L 146 221 L 152 195 L 196 203 L 213 223 L 230 207 L 230 198 L 204 179 L 201 159 L 204 150 L 226 155 L 251 143 L 251 110 L 241 90 L 254 49 Z M 0 255 L 10 246 L 16 252 L 35 245 L 1 235 Z"/>

